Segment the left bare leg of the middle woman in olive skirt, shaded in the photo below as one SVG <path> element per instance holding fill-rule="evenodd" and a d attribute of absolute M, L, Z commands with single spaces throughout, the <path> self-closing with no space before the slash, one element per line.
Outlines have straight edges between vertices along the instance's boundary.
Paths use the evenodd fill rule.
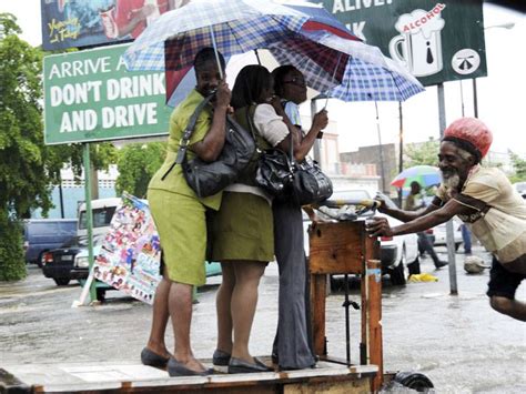
<path fill-rule="evenodd" d="M 218 313 L 218 347 L 220 351 L 232 353 L 232 292 L 235 286 L 233 263 L 221 263 L 223 280 L 215 297 Z"/>

